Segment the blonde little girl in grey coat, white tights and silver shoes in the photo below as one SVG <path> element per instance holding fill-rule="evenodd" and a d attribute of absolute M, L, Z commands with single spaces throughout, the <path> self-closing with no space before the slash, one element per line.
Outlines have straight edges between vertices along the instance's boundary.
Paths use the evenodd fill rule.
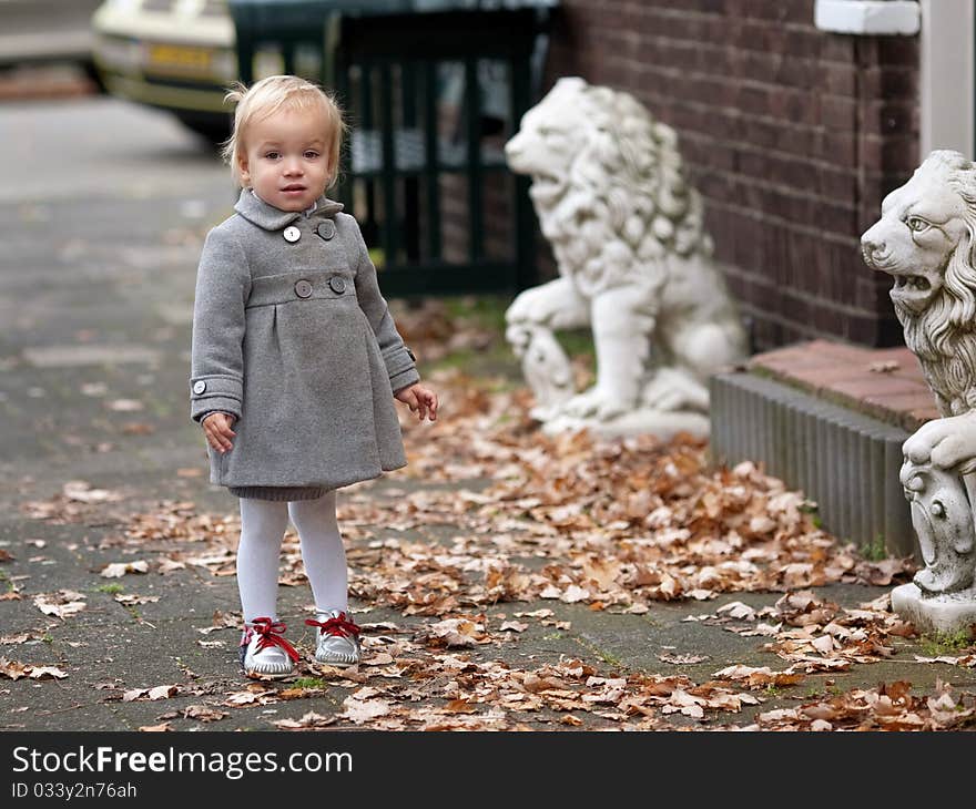
<path fill-rule="evenodd" d="M 418 385 L 377 285 L 359 226 L 325 190 L 345 124 L 333 99 L 292 75 L 227 94 L 224 157 L 236 214 L 206 237 L 193 313 L 191 416 L 211 482 L 241 499 L 241 663 L 287 677 L 298 653 L 276 612 L 287 521 L 298 531 L 317 616 L 315 659 L 359 660 L 335 491 L 406 463 L 394 398 L 423 421 L 437 396 Z"/>

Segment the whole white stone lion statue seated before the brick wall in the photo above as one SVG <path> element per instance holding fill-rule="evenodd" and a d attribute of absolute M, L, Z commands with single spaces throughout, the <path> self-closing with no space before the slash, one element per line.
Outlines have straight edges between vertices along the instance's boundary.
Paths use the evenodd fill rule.
<path fill-rule="evenodd" d="M 506 144 L 510 168 L 532 178 L 559 269 L 506 313 L 548 428 L 706 432 L 709 376 L 745 356 L 677 142 L 633 96 L 566 78 Z M 553 331 L 580 327 L 597 381 L 578 393 Z"/>

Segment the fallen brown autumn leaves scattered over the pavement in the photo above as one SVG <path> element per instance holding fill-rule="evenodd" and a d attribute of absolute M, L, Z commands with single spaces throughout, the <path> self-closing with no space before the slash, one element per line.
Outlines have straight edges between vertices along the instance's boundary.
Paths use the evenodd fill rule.
<path fill-rule="evenodd" d="M 437 318 L 418 322 L 428 324 L 438 345 L 448 334 Z M 423 347 L 423 339 L 415 335 L 414 344 Z M 479 335 L 470 345 L 481 346 L 484 339 Z M 428 381 L 440 396 L 440 416 L 436 423 L 417 423 L 401 410 L 407 468 L 350 487 L 339 498 L 350 595 L 366 629 L 359 666 L 333 669 L 303 662 L 297 684 L 218 686 L 216 694 L 200 684 L 116 687 L 124 693 L 105 698 L 210 698 L 163 714 L 148 730 L 170 729 L 176 718 L 220 721 L 236 708 L 327 692 L 334 699 L 335 689 L 346 693 L 342 710 L 309 710 L 298 720 L 272 724 L 289 730 L 719 729 L 733 727 L 729 717 L 748 711 L 738 727 L 972 725 L 972 694 L 957 695 L 941 684 L 933 695 L 913 696 L 901 680 L 762 710 L 769 689 L 885 659 L 896 639 L 914 634 L 885 598 L 845 610 L 810 590 L 907 581 L 914 570 L 909 560 L 861 557 L 817 528 L 815 504 L 802 493 L 752 463 L 715 467 L 705 441 L 689 436 L 669 442 L 650 437 L 598 441 L 586 432 L 546 437 L 529 416 L 529 391 L 511 379 L 446 369 Z M 90 519 L 90 509 L 119 505 L 112 493 L 83 485 L 59 498 L 26 504 L 26 511 L 38 519 Z M 102 549 L 140 559 L 98 573 L 108 578 L 192 569 L 233 575 L 238 532 L 236 514 L 201 513 L 190 501 L 160 503 L 126 514 L 124 530 L 101 542 Z M 305 586 L 293 533 L 286 535 L 281 582 Z M 516 665 L 512 656 L 504 662 L 494 654 L 530 628 L 569 628 L 540 602 L 641 614 L 655 602 L 703 605 L 719 594 L 748 592 L 782 595 L 762 610 L 732 602 L 687 619 L 767 638 L 766 649 L 783 660 L 779 670 L 726 666 L 695 683 L 683 674 L 633 672 L 576 656 L 527 656 Z M 60 610 L 62 619 L 84 606 L 71 593 L 34 598 L 42 611 Z M 403 619 L 363 621 L 380 608 Z M 238 624 L 237 614 L 217 614 L 213 626 L 199 629 L 199 643 L 222 645 L 207 639 L 210 633 Z M 701 659 L 706 658 L 667 662 Z M 953 662 L 976 666 L 976 654 Z M 4 659 L 0 675 L 32 676 L 20 665 Z"/>

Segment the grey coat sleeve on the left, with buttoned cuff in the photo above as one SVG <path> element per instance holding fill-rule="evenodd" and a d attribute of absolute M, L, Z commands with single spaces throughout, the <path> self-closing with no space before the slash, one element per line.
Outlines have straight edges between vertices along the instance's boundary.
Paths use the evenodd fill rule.
<path fill-rule="evenodd" d="M 220 410 L 241 417 L 244 398 L 244 306 L 251 269 L 231 234 L 207 234 L 196 270 L 190 359 L 190 416 Z"/>

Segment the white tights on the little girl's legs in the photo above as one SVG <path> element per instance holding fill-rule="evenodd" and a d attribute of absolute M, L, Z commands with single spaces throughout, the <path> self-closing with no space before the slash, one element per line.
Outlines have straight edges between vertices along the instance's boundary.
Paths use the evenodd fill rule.
<path fill-rule="evenodd" d="M 244 621 L 277 619 L 278 560 L 288 518 L 298 531 L 315 608 L 348 612 L 346 550 L 335 514 L 335 491 L 291 503 L 241 498 L 237 587 Z"/>

